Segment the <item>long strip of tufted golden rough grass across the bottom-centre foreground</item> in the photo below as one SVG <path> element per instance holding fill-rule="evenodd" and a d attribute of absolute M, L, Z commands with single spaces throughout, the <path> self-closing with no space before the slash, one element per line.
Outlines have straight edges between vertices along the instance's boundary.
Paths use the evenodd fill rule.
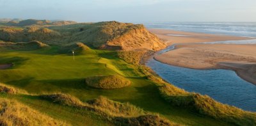
<path fill-rule="evenodd" d="M 150 114 L 129 103 L 120 103 L 106 97 L 81 102 L 78 98 L 65 94 L 40 95 L 63 106 L 78 107 L 98 113 L 116 125 L 177 125 L 159 115 Z"/>

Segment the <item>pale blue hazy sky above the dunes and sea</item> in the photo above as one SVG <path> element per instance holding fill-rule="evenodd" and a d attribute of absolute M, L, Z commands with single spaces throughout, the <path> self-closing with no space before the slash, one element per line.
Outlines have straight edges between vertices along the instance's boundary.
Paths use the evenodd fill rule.
<path fill-rule="evenodd" d="M 0 18 L 256 22 L 256 0 L 0 0 Z"/>

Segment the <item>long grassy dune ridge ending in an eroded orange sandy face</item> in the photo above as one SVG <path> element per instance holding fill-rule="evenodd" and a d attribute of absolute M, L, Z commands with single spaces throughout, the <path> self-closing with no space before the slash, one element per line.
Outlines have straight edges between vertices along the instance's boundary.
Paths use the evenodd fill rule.
<path fill-rule="evenodd" d="M 8 42 L 38 40 L 55 45 L 60 45 L 59 42 L 62 42 L 61 44 L 83 42 L 94 48 L 111 50 L 148 49 L 157 51 L 166 47 L 156 35 L 149 33 L 143 25 L 115 21 L 57 25 L 47 28 L 4 27 L 0 29 L 0 40 Z"/>

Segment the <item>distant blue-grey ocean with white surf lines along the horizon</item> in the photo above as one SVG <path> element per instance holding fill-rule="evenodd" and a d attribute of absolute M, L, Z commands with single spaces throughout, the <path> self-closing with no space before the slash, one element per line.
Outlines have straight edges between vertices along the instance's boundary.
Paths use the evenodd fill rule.
<path fill-rule="evenodd" d="M 143 22 L 146 28 L 256 37 L 256 22 Z"/>

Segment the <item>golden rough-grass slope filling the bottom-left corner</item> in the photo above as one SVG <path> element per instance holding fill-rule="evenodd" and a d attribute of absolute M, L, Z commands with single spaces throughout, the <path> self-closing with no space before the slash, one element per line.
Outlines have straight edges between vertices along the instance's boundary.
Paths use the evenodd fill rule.
<path fill-rule="evenodd" d="M 67 125 L 5 98 L 0 98 L 0 114 L 0 125 Z"/>

